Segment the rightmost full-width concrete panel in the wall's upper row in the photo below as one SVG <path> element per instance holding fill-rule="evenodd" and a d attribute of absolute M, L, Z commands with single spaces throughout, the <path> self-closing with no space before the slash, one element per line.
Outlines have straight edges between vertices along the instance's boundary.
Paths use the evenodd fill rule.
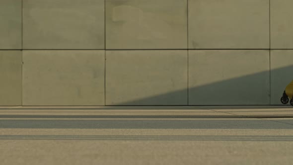
<path fill-rule="evenodd" d="M 269 0 L 189 0 L 188 11 L 189 49 L 270 47 Z"/>

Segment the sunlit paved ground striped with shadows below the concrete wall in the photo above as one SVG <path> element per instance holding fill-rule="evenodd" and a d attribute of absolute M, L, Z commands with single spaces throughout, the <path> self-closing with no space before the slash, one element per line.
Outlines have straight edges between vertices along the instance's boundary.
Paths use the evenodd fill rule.
<path fill-rule="evenodd" d="M 0 107 L 1 165 L 291 165 L 292 106 Z"/>

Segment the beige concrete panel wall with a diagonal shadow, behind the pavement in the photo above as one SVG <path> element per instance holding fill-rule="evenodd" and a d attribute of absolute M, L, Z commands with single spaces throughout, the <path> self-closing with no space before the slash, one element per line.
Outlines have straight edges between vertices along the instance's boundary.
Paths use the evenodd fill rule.
<path fill-rule="evenodd" d="M 292 0 L 0 0 L 0 106 L 280 104 Z"/>

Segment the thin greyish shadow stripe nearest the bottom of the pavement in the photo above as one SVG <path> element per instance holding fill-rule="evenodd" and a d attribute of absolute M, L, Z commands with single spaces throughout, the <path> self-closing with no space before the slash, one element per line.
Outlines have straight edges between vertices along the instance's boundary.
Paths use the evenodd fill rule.
<path fill-rule="evenodd" d="M 293 141 L 293 136 L 0 135 L 0 140 Z"/>

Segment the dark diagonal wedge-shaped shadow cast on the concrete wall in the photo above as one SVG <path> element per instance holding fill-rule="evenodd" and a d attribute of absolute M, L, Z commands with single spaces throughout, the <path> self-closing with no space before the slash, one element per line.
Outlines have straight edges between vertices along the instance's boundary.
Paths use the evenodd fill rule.
<path fill-rule="evenodd" d="M 281 105 L 291 71 L 293 65 L 111 105 Z"/>

